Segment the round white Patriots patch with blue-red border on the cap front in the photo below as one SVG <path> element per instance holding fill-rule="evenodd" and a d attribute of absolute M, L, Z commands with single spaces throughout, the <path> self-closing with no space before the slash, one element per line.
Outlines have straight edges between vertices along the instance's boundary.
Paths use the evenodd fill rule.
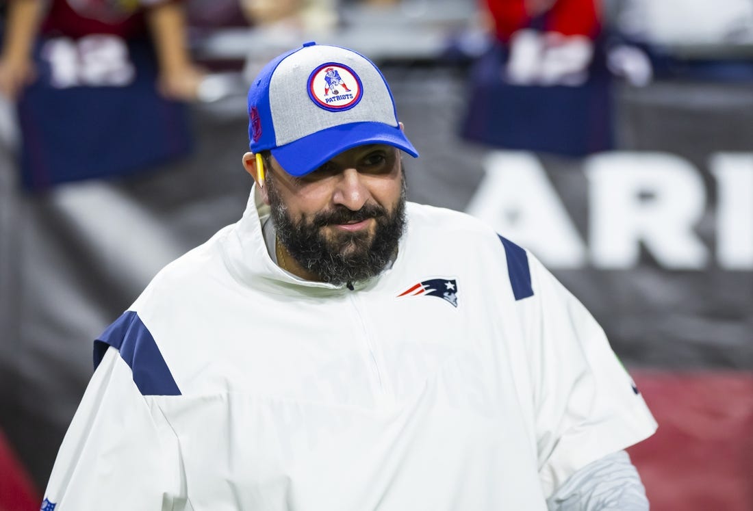
<path fill-rule="evenodd" d="M 343 111 L 361 101 L 361 78 L 344 64 L 328 62 L 309 75 L 309 97 L 320 108 Z"/>

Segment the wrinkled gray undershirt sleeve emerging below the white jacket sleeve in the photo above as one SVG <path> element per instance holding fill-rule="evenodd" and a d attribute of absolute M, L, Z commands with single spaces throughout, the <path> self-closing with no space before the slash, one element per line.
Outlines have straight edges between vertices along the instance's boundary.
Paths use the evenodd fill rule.
<path fill-rule="evenodd" d="M 630 456 L 620 451 L 570 476 L 547 506 L 550 511 L 648 511 L 648 498 Z"/>

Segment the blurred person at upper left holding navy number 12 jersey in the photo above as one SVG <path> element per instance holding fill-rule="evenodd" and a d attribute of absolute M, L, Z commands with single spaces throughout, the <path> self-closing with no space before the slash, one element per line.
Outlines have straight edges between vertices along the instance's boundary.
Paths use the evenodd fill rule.
<path fill-rule="evenodd" d="M 47 190 L 183 157 L 184 102 L 203 77 L 181 2 L 12 0 L 0 93 L 16 102 L 21 184 Z"/>

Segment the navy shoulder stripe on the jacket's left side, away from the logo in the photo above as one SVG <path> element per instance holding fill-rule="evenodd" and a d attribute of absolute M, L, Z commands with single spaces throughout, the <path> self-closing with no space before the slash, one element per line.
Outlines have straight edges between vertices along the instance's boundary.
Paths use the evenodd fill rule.
<path fill-rule="evenodd" d="M 133 382 L 144 396 L 181 395 L 154 337 L 136 312 L 124 312 L 94 341 L 94 369 L 102 362 L 108 346 L 120 351 L 133 373 Z"/>

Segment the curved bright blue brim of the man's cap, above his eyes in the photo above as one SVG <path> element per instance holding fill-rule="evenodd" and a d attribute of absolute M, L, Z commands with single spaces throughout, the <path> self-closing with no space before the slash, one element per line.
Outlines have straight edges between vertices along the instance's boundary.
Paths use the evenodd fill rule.
<path fill-rule="evenodd" d="M 300 177 L 319 169 L 343 151 L 367 144 L 392 145 L 414 158 L 419 156 L 402 129 L 384 123 L 340 124 L 281 145 L 271 152 L 285 172 Z"/>

